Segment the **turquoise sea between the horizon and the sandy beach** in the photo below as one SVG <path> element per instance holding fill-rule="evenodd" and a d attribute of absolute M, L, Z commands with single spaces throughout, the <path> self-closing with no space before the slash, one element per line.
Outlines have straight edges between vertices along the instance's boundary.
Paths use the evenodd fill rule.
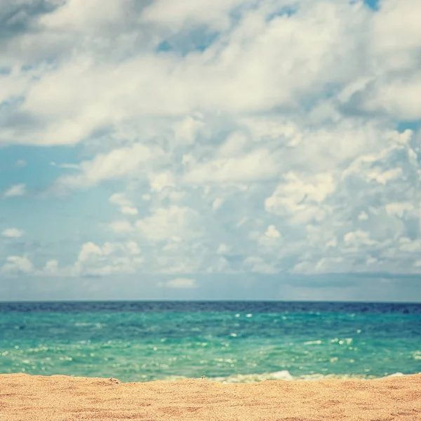
<path fill-rule="evenodd" d="M 0 373 L 225 382 L 421 371 L 421 305 L 0 302 Z"/>

